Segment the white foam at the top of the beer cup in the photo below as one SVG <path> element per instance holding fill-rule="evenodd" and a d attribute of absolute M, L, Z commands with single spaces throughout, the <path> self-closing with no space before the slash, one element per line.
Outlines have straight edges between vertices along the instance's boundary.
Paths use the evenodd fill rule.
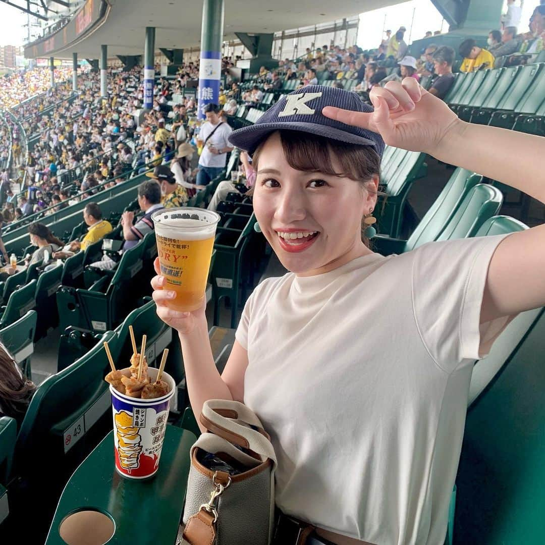
<path fill-rule="evenodd" d="M 176 240 L 205 240 L 213 237 L 219 216 L 204 209 L 160 210 L 153 214 L 155 232 L 159 237 Z"/>

